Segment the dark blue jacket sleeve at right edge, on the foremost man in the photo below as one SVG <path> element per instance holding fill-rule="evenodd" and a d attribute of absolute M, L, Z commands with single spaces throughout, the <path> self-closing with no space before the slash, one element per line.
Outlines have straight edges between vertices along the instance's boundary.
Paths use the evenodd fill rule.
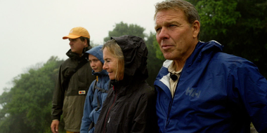
<path fill-rule="evenodd" d="M 258 132 L 267 131 L 267 80 L 252 62 L 245 61 L 233 70 L 233 87 L 237 88 L 245 109 Z M 237 94 L 236 94 L 237 97 Z"/>

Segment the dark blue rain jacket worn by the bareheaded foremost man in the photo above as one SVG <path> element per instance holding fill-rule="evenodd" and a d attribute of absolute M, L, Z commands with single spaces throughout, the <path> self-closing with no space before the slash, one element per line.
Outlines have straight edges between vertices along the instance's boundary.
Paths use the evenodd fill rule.
<path fill-rule="evenodd" d="M 207 133 L 267 131 L 267 81 L 247 59 L 221 52 L 216 41 L 199 42 L 169 90 L 171 60 L 155 80 L 159 132 Z"/>

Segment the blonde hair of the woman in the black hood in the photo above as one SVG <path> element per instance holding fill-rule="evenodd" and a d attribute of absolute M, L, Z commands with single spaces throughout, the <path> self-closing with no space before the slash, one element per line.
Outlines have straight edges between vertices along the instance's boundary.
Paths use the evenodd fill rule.
<path fill-rule="evenodd" d="M 115 73 L 115 79 L 119 80 L 124 74 L 124 55 L 122 52 L 122 48 L 119 47 L 115 39 L 111 39 L 107 41 L 104 45 L 102 50 L 107 48 L 107 50 L 111 53 L 111 55 L 117 58 L 117 71 Z M 122 73 L 118 73 L 118 70 L 123 70 Z"/>

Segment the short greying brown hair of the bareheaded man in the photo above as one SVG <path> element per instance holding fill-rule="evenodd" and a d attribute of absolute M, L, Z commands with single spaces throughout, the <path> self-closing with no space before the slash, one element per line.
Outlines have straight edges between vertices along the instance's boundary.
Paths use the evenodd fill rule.
<path fill-rule="evenodd" d="M 171 0 L 156 3 L 154 20 L 156 19 L 156 15 L 160 10 L 182 10 L 183 13 L 185 13 L 185 18 L 190 25 L 192 25 L 195 20 L 200 22 L 200 15 L 198 15 L 197 9 L 195 9 L 195 6 L 188 1 Z M 197 38 L 200 38 L 200 33 L 197 35 Z"/>

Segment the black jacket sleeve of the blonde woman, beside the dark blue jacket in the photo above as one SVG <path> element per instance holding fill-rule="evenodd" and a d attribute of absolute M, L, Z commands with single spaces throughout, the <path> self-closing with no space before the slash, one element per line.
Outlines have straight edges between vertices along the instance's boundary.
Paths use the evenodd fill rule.
<path fill-rule="evenodd" d="M 147 89 L 147 88 L 144 88 Z M 140 97 L 140 102 L 136 109 L 135 116 L 133 118 L 133 126 L 131 132 L 139 133 L 157 133 L 157 115 L 156 115 L 156 97 L 155 91 L 145 92 Z"/>

